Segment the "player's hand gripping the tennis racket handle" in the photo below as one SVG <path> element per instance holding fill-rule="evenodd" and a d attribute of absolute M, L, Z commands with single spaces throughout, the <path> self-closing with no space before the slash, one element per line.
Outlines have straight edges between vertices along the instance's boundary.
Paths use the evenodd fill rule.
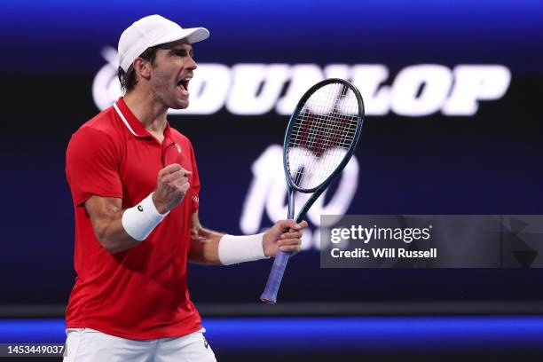
<path fill-rule="evenodd" d="M 279 220 L 264 233 L 265 256 L 275 256 L 278 249 L 293 254 L 299 252 L 302 249 L 302 230 L 306 227 L 306 221 L 296 224 L 294 220 Z"/>

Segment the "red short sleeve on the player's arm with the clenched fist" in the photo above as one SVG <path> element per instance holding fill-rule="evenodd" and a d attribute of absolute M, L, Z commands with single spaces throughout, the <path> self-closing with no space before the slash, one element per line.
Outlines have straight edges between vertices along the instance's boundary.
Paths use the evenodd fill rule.
<path fill-rule="evenodd" d="M 75 206 L 92 195 L 122 199 L 120 153 L 114 139 L 100 130 L 77 130 L 66 152 L 66 175 Z"/>

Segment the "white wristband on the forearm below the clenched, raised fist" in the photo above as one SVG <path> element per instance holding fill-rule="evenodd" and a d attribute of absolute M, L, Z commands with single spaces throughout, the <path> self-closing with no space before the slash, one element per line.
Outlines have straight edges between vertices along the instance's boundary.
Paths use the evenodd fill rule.
<path fill-rule="evenodd" d="M 151 193 L 135 207 L 124 210 L 122 227 L 133 239 L 143 241 L 168 213 L 169 211 L 166 214 L 158 212 Z"/>

